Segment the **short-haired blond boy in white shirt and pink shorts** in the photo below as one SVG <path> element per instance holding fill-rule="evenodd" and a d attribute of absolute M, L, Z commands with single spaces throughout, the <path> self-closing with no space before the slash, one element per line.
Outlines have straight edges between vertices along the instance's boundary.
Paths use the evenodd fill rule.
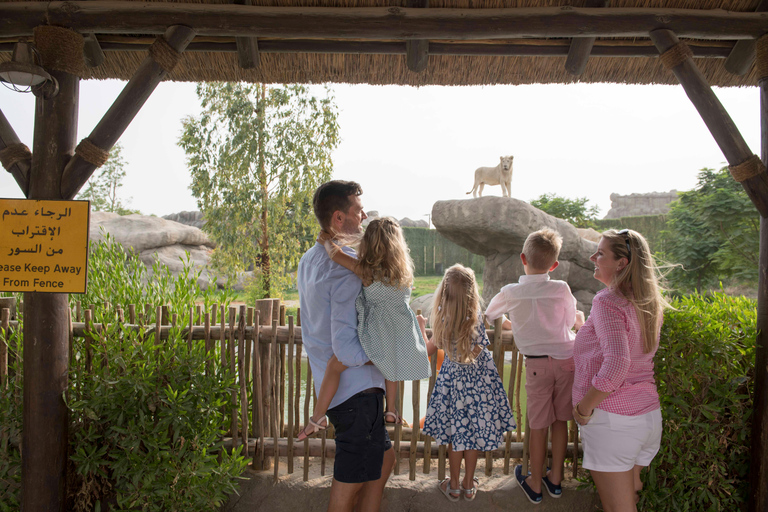
<path fill-rule="evenodd" d="M 525 275 L 508 284 L 491 300 L 485 312 L 489 322 L 504 318 L 518 350 L 525 356 L 525 391 L 531 431 L 531 474 L 515 468 L 515 480 L 531 503 L 542 499 L 542 484 L 553 498 L 562 494 L 568 424 L 572 418 L 573 340 L 571 327 L 578 330 L 584 313 L 576 310 L 576 299 L 565 281 L 550 280 L 558 266 L 563 239 L 551 229 L 528 235 L 520 259 Z M 552 427 L 552 468 L 544 473 L 547 430 Z"/>

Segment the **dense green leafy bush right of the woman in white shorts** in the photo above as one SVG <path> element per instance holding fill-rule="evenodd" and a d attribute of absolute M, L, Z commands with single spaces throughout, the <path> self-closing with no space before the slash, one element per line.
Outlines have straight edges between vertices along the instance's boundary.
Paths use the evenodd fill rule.
<path fill-rule="evenodd" d="M 638 510 L 734 511 L 746 503 L 757 309 L 713 293 L 673 302 L 656 355 L 664 430 Z"/>

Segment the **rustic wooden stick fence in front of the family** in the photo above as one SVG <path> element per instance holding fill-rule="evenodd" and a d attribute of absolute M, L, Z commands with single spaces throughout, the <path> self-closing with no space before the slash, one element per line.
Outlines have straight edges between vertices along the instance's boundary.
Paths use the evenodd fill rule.
<path fill-rule="evenodd" d="M 228 406 L 228 425 L 225 427 L 228 432 L 224 439 L 226 448 L 243 445 L 246 457 L 252 460 L 252 467 L 259 470 L 271 468 L 275 479 L 280 471 L 280 457 L 287 461 L 288 473 L 294 472 L 294 460 L 303 458 L 305 481 L 309 478 L 310 460 L 316 462 L 319 459 L 320 472 L 325 474 L 327 461 L 335 454 L 333 427 L 314 438 L 304 441 L 295 439 L 302 426 L 307 424 L 315 401 L 309 365 L 302 378 L 300 314 L 295 319 L 293 316 L 286 317 L 285 306 L 280 304 L 280 299 L 257 301 L 256 307 L 241 305 L 227 309 L 213 305 L 210 311 L 202 311 L 198 305 L 189 310 L 189 324 L 180 326 L 177 325 L 177 315 L 169 315 L 167 306 L 153 311 L 150 305 L 137 308 L 131 304 L 126 309 L 115 307 L 114 310 L 121 330 L 143 330 L 145 336 L 155 338 L 158 346 L 162 346 L 162 340 L 168 339 L 171 329 L 180 331 L 190 346 L 193 343 L 204 343 L 209 355 L 206 373 L 211 372 L 212 365 L 220 364 L 222 368 L 228 368 L 232 375 L 236 375 L 239 389 L 232 391 Z M 88 370 L 93 364 L 90 347 L 98 333 L 108 326 L 93 322 L 94 306 L 83 309 L 78 303 L 71 313 L 70 340 L 84 339 L 84 364 Z M 0 310 L 0 383 L 3 384 L 8 375 L 6 333 L 9 328 L 17 326 L 18 322 L 11 320 L 11 310 Z M 503 461 L 504 474 L 509 474 L 511 459 L 522 459 L 523 470 L 528 470 L 528 436 L 525 435 L 528 430 L 527 418 L 523 420 L 520 407 L 523 356 L 515 347 L 511 333 L 500 329 L 500 321 L 497 321 L 495 327 L 488 330 L 491 339 L 489 350 L 493 353 L 504 382 L 517 429 L 506 433 L 503 446 L 485 452 L 487 476 L 493 472 L 494 460 Z M 511 362 L 509 372 L 505 371 L 505 358 Z M 422 472 L 429 474 L 435 458 L 438 461 L 438 478 L 445 478 L 446 446 L 436 446 L 430 436 L 420 431 L 419 426 L 421 401 L 429 399 L 435 385 L 436 360 L 433 357 L 431 361 L 432 377 L 429 379 L 427 397 L 421 397 L 419 381 L 413 382 L 413 425 L 388 427 L 396 457 L 395 474 L 400 473 L 401 461 L 408 460 L 411 480 L 416 478 L 419 463 Z M 70 358 L 70 361 L 73 359 Z M 403 411 L 406 404 L 403 403 L 402 383 L 398 389 L 397 409 Z M 251 391 L 250 400 L 248 391 Z M 573 461 L 574 476 L 578 469 L 579 455 L 578 431 L 575 422 L 570 422 L 568 457 Z"/>

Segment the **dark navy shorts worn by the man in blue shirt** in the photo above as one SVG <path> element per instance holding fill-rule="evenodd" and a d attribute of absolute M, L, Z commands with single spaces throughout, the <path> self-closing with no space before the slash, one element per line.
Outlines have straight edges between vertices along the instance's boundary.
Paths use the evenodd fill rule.
<path fill-rule="evenodd" d="M 384 391 L 358 393 L 327 415 L 336 429 L 333 478 L 349 484 L 381 478 L 384 452 L 392 447 L 384 425 Z"/>

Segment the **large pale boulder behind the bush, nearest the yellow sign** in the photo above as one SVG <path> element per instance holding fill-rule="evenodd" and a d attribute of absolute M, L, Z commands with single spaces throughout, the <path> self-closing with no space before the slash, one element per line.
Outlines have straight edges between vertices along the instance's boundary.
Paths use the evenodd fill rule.
<path fill-rule="evenodd" d="M 137 254 L 148 270 L 157 259 L 177 275 L 189 254 L 192 266 L 201 271 L 198 279 L 201 287 L 206 288 L 215 277 L 209 269 L 215 244 L 196 227 L 147 215 L 91 212 L 89 238 L 102 240 L 107 233 L 126 250 Z M 222 282 L 219 278 L 218 283 Z"/>

